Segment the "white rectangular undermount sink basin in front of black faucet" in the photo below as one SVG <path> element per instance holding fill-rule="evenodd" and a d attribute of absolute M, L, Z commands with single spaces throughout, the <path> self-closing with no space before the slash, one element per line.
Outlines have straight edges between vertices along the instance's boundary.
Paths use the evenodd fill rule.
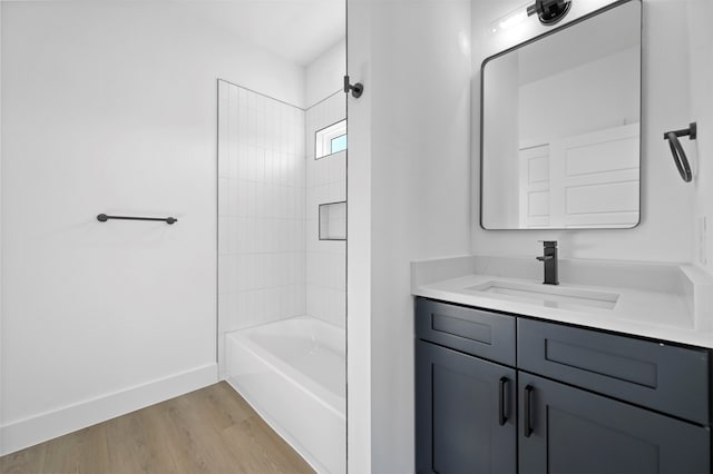
<path fill-rule="evenodd" d="M 582 307 L 614 309 L 619 298 L 619 295 L 616 293 L 499 280 L 481 283 L 480 285 L 469 286 L 465 289 L 481 293 L 482 296 L 489 298 L 529 303 L 561 309 L 577 309 Z"/>

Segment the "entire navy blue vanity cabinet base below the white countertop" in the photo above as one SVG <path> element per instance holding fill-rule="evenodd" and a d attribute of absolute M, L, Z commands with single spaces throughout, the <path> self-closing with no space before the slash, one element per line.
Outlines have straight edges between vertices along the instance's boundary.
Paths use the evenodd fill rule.
<path fill-rule="evenodd" d="M 710 349 L 424 298 L 416 339 L 417 472 L 711 473 Z"/>

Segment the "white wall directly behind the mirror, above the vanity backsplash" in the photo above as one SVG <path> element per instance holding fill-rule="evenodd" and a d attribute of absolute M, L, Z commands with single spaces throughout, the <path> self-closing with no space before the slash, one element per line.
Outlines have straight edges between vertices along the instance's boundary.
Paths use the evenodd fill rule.
<path fill-rule="evenodd" d="M 607 0 L 574 2 L 565 21 L 595 10 Z M 473 166 L 472 253 L 478 255 L 533 256 L 541 251 L 538 240 L 559 240 L 567 258 L 690 261 L 693 221 L 693 188 L 684 184 L 673 166 L 671 151 L 662 139 L 664 130 L 685 127 L 690 119 L 687 12 L 680 0 L 646 0 L 643 32 L 642 111 L 642 220 L 626 230 L 518 231 L 482 230 L 478 225 L 479 167 Z M 480 63 L 498 51 L 546 30 L 534 19 L 510 30 L 491 34 L 489 24 L 521 6 L 516 0 L 473 0 L 472 149 L 480 144 Z M 473 152 L 473 162 L 479 156 Z"/>

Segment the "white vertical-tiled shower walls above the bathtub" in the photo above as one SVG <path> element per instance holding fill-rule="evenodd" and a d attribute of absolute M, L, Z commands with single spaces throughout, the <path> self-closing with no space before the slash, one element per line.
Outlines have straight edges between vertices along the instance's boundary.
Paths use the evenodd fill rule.
<path fill-rule="evenodd" d="M 343 92 L 303 111 L 218 81 L 218 358 L 224 334 L 309 314 L 345 327 L 346 247 L 320 204 L 346 199 L 346 152 L 314 158 Z M 305 157 L 306 152 L 306 157 Z"/>

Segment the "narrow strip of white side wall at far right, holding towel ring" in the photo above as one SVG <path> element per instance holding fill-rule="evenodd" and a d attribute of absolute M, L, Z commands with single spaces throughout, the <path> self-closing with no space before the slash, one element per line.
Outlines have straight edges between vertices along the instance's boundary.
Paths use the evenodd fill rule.
<path fill-rule="evenodd" d="M 695 141 L 683 139 L 694 160 L 695 224 L 693 261 L 713 274 L 713 2 L 687 0 L 691 60 L 691 119 L 699 126 Z M 685 127 L 685 125 L 683 126 Z M 682 128 L 683 128 L 682 127 Z M 705 218 L 706 230 L 702 234 Z"/>

